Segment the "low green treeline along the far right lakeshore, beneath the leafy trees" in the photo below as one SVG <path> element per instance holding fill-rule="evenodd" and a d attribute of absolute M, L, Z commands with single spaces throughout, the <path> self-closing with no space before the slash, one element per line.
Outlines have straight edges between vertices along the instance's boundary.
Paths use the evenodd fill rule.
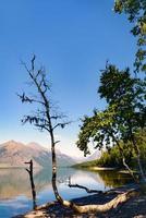
<path fill-rule="evenodd" d="M 146 131 L 143 134 L 137 134 L 137 143 L 141 149 L 141 159 L 144 166 L 146 166 Z M 121 147 L 122 147 L 121 143 Z M 134 170 L 137 168 L 136 154 L 132 149 L 132 145 L 127 144 L 126 148 L 124 147 L 124 157 L 126 164 Z M 78 168 L 89 168 L 89 167 L 107 167 L 107 168 L 117 168 L 123 169 L 123 160 L 118 145 L 108 148 L 106 152 L 102 152 L 102 155 L 99 159 L 82 162 L 75 165 L 74 167 Z"/>

